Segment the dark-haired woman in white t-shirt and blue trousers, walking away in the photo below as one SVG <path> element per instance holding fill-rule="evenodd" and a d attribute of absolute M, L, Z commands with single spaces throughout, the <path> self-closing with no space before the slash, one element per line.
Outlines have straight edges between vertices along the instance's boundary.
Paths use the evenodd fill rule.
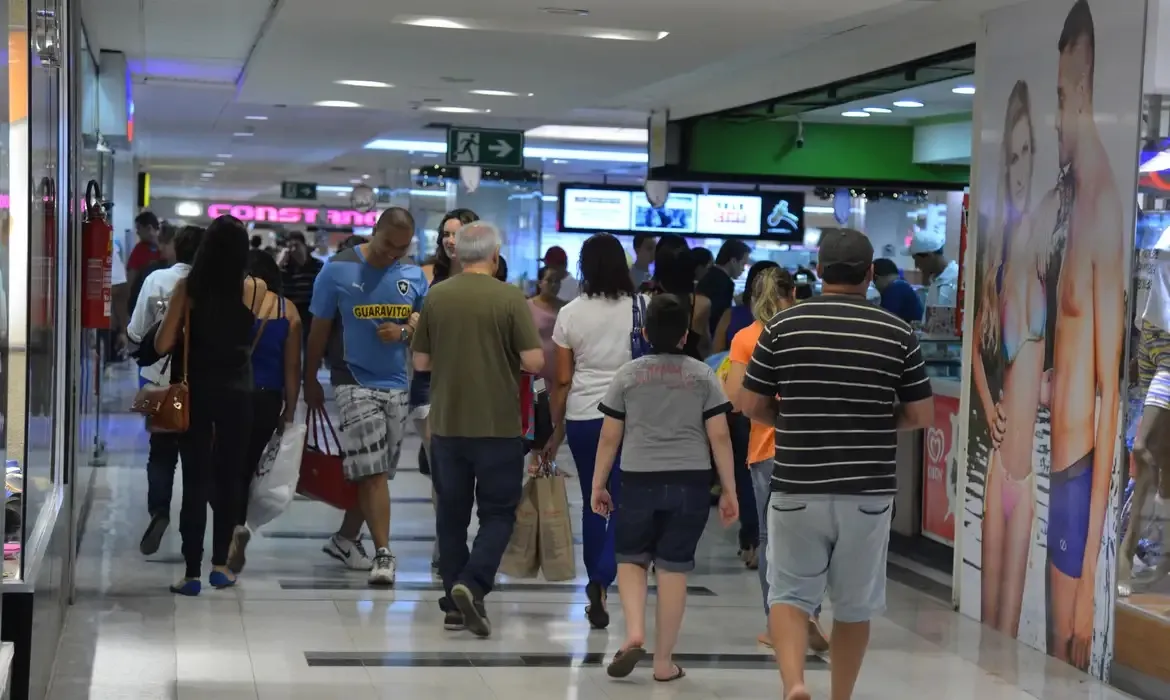
<path fill-rule="evenodd" d="M 580 253 L 581 295 L 557 315 L 552 329 L 556 376 L 550 390 L 553 435 L 544 454 L 553 458 L 562 440 L 577 465 L 577 482 L 589 502 L 593 486 L 593 462 L 601 438 L 598 409 L 618 369 L 631 361 L 634 323 L 634 283 L 629 279 L 626 252 L 607 233 L 590 236 Z M 694 281 L 691 281 L 694 282 Z M 614 462 L 608 489 L 620 503 L 621 469 Z M 585 570 L 589 584 L 585 613 L 594 629 L 610 624 L 606 590 L 618 575 L 613 551 L 613 527 L 589 508 L 581 509 Z"/>

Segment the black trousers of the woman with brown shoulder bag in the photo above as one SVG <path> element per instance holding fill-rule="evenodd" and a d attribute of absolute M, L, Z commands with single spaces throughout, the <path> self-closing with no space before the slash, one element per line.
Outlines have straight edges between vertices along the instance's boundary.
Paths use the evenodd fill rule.
<path fill-rule="evenodd" d="M 207 505 L 212 519 L 212 565 L 227 564 L 239 513 L 247 494 L 241 490 L 252 437 L 252 392 L 216 386 L 192 378 L 191 427 L 179 438 L 183 455 L 183 508 L 179 535 L 187 578 L 198 578 L 204 561 Z"/>

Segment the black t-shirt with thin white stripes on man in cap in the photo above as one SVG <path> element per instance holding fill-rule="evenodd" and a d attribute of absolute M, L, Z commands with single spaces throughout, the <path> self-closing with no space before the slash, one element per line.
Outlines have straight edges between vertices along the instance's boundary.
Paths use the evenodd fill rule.
<path fill-rule="evenodd" d="M 786 494 L 893 494 L 895 402 L 931 396 L 910 327 L 844 295 L 777 314 L 743 386 L 779 398 L 772 490 Z"/>

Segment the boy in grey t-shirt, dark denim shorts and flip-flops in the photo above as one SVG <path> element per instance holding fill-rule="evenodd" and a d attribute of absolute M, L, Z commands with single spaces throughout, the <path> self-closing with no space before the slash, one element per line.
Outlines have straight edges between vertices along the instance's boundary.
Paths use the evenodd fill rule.
<path fill-rule="evenodd" d="M 710 513 L 710 458 L 723 485 L 720 515 L 727 527 L 738 519 L 731 438 L 725 414 L 731 404 L 715 372 L 682 354 L 690 308 L 669 294 L 655 296 L 646 311 L 652 355 L 618 370 L 601 400 L 605 414 L 593 469 L 594 513 L 612 515 L 618 560 L 618 592 L 626 613 L 626 643 L 610 663 L 613 678 L 629 675 L 646 657 L 646 572 L 658 579 L 658 633 L 654 679 L 684 675 L 672 660 L 687 608 L 687 574 Z M 621 446 L 621 507 L 606 489 Z"/>

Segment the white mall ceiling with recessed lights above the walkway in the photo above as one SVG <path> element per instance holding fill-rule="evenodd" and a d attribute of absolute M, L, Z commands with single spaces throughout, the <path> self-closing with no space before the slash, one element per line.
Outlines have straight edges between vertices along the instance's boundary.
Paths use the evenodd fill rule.
<path fill-rule="evenodd" d="M 83 18 L 95 50 L 121 50 L 130 60 L 133 150 L 140 167 L 152 173 L 157 195 L 271 199 L 281 180 L 343 185 L 371 174 L 391 181 L 411 166 L 435 163 L 422 153 L 363 149 L 373 138 L 441 142 L 442 131 L 425 129 L 428 123 L 644 126 L 651 109 L 669 108 L 675 117 L 716 111 L 954 48 L 973 41 L 980 8 L 1011 1 L 559 5 L 589 11 L 579 18 L 541 11 L 556 0 L 395 0 L 388 6 L 380 0 L 83 0 Z M 400 15 L 464 19 L 508 30 L 404 26 L 393 21 Z M 581 28 L 669 35 L 661 41 L 565 35 Z M 346 78 L 395 87 L 335 84 Z M 487 97 L 470 89 L 534 95 Z M 364 108 L 312 107 L 322 99 Z M 426 104 L 491 112 L 418 109 L 433 99 L 441 102 Z M 234 136 L 246 130 L 254 135 Z M 211 166 L 219 153 L 232 158 Z M 639 171 L 605 162 L 528 166 L 545 169 L 553 181 Z M 201 180 L 208 171 L 215 177 Z"/>

